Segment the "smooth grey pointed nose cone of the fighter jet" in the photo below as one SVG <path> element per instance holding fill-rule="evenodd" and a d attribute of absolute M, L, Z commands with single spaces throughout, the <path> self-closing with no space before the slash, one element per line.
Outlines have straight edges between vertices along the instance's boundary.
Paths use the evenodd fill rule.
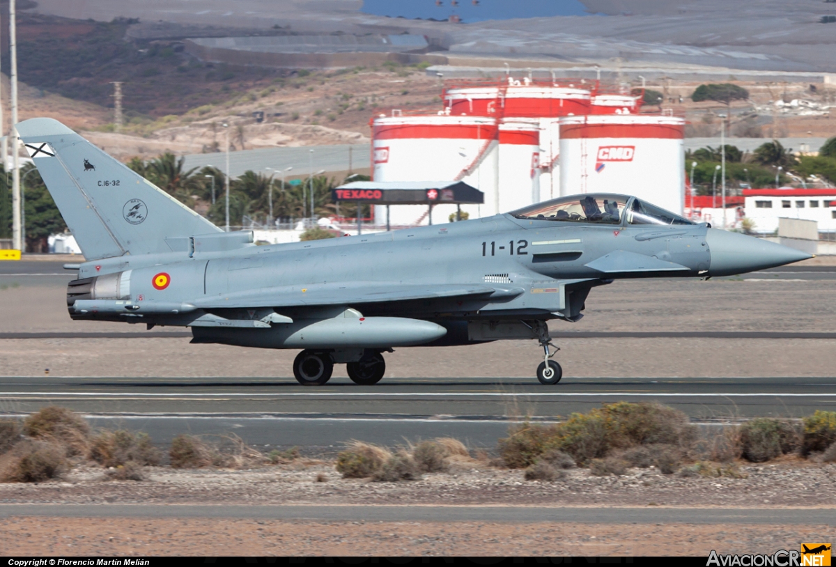
<path fill-rule="evenodd" d="M 813 258 L 795 248 L 718 228 L 708 229 L 706 243 L 711 253 L 708 273 L 712 276 L 754 272 Z"/>

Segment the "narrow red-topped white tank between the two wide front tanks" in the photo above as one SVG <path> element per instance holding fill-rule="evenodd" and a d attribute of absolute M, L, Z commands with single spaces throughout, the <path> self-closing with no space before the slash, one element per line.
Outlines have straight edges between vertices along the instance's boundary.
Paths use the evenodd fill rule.
<path fill-rule="evenodd" d="M 539 122 L 529 118 L 504 118 L 499 122 L 500 212 L 542 201 Z"/>

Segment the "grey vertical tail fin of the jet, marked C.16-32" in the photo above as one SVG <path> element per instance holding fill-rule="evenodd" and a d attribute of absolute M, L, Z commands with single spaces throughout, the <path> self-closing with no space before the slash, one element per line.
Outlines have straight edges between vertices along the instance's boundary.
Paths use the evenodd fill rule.
<path fill-rule="evenodd" d="M 221 232 L 58 120 L 17 129 L 88 260 L 171 252 L 166 238 Z"/>

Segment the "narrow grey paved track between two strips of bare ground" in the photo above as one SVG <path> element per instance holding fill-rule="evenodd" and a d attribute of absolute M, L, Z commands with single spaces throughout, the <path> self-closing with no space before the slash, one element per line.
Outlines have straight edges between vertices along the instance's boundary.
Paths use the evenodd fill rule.
<path fill-rule="evenodd" d="M 0 518 L 254 518 L 336 521 L 573 522 L 579 524 L 836 525 L 829 508 L 545 508 L 529 506 L 202 506 L 0 504 Z"/>

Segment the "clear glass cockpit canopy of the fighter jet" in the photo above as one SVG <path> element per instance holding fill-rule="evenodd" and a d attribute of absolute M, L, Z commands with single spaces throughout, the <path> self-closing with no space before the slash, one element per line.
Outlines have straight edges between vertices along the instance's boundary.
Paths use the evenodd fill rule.
<path fill-rule="evenodd" d="M 517 218 L 594 224 L 695 224 L 684 217 L 627 195 L 570 195 L 512 211 Z"/>

